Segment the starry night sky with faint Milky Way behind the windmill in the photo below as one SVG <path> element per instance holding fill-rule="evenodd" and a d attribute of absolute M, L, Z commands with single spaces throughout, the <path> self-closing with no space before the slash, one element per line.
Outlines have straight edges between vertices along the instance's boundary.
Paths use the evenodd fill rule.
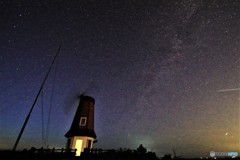
<path fill-rule="evenodd" d="M 0 0 L 0 149 L 65 147 L 82 93 L 97 148 L 239 151 L 240 1 Z M 231 91 L 219 91 L 236 89 Z"/>

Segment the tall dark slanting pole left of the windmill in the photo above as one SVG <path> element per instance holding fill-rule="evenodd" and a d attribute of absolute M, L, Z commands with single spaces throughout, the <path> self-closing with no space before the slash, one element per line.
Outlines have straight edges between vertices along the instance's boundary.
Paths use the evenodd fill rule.
<path fill-rule="evenodd" d="M 38 97 L 39 97 L 40 93 L 42 92 L 43 86 L 44 86 L 44 84 L 45 84 L 45 82 L 46 82 L 46 80 L 47 80 L 47 78 L 48 78 L 48 75 L 49 75 L 49 73 L 50 73 L 50 71 L 51 71 L 51 69 L 52 69 L 52 66 L 53 66 L 53 64 L 54 64 L 54 62 L 55 62 L 55 60 L 56 60 L 56 58 L 57 58 L 57 56 L 58 56 L 58 54 L 59 54 L 60 49 L 61 49 L 61 44 L 60 44 L 60 46 L 59 46 L 59 48 L 58 48 L 58 51 L 57 51 L 57 53 L 56 53 L 56 55 L 55 55 L 55 57 L 54 57 L 54 59 L 53 59 L 53 61 L 52 61 L 52 64 L 51 64 L 50 68 L 48 69 L 48 72 L 47 72 L 47 74 L 46 74 L 46 77 L 45 77 L 45 79 L 44 79 L 44 81 L 43 81 L 43 83 L 42 83 L 42 85 L 41 85 L 41 87 L 40 87 L 40 89 L 39 89 L 39 91 L 38 91 L 38 94 L 37 94 L 37 96 L 36 96 L 36 98 L 35 98 L 35 100 L 34 100 L 34 102 L 33 102 L 33 104 L 32 104 L 32 107 L 31 107 L 31 109 L 30 109 L 30 111 L 29 111 L 29 113 L 28 113 L 28 115 L 27 115 L 27 117 L 26 117 L 26 119 L 25 119 L 25 121 L 24 121 L 24 123 L 23 123 L 22 129 L 21 129 L 21 131 L 20 131 L 20 133 L 19 133 L 19 135 L 18 135 L 18 137 L 17 137 L 17 140 L 16 140 L 14 146 L 13 146 L 13 151 L 15 151 L 16 148 L 17 148 L 17 146 L 18 146 L 18 142 L 19 142 L 19 140 L 21 139 L 21 136 L 22 136 L 23 131 L 24 131 L 24 129 L 25 129 L 27 123 L 28 123 L 28 120 L 29 120 L 29 118 L 30 118 L 30 115 L 31 115 L 31 113 L 32 113 L 32 110 L 33 110 L 33 108 L 34 108 L 34 106 L 35 106 L 35 104 L 36 104 L 36 102 L 37 102 L 37 100 L 38 100 Z"/>

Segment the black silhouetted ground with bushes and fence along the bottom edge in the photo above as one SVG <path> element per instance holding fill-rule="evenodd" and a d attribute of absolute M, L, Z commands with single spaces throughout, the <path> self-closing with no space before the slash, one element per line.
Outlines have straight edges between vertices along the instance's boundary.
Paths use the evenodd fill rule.
<path fill-rule="evenodd" d="M 165 154 L 158 158 L 154 152 L 147 152 L 146 148 L 140 145 L 137 149 L 85 149 L 80 157 L 75 156 L 76 150 L 69 149 L 36 149 L 10 151 L 0 150 L 0 160 L 183 160 L 171 154 Z M 200 158 L 199 158 L 200 159 Z M 198 160 L 199 160 L 198 159 Z M 208 158 L 214 159 L 214 158 Z M 233 160 L 232 158 L 218 158 L 221 160 Z M 236 158 L 238 159 L 238 158 Z M 197 159 L 186 159 L 197 160 Z"/>

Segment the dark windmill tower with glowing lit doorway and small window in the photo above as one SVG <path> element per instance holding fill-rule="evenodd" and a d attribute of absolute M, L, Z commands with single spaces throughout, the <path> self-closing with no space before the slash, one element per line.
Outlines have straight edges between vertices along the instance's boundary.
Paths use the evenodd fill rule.
<path fill-rule="evenodd" d="M 80 156 L 85 148 L 93 148 L 96 139 L 94 131 L 94 98 L 80 96 L 80 103 L 73 119 L 70 130 L 65 134 L 68 138 L 68 148 L 77 149 L 76 156 Z"/>

